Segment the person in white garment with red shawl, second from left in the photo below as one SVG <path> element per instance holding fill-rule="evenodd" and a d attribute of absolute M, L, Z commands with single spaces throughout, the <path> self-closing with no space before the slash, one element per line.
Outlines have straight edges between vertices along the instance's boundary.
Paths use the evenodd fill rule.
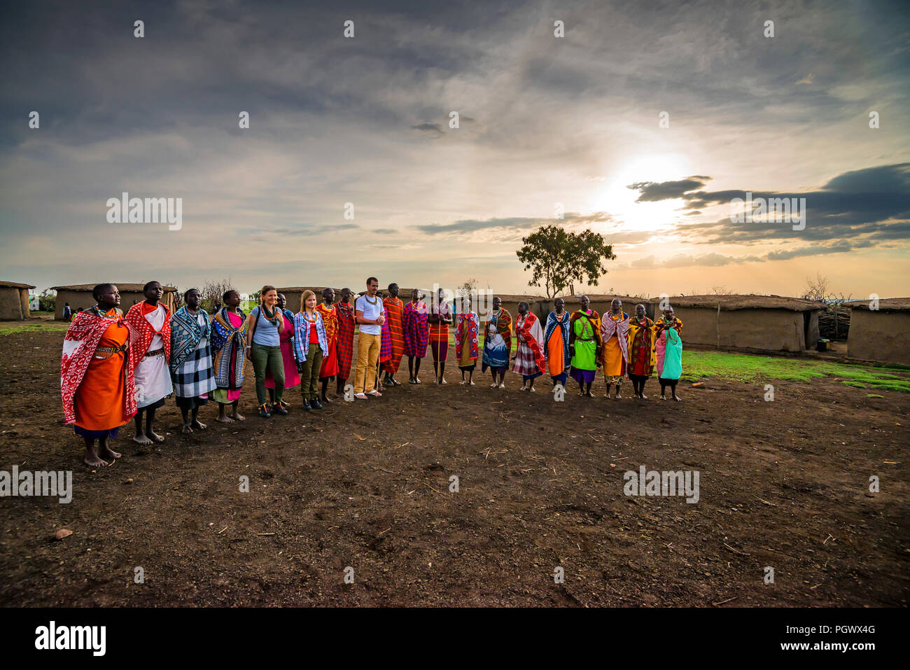
<path fill-rule="evenodd" d="M 170 310 L 160 303 L 164 288 L 157 281 L 149 281 L 142 292 L 146 299 L 133 305 L 126 312 L 124 322 L 129 328 L 129 348 L 133 354 L 136 380 L 136 437 L 134 442 L 151 444 L 165 439 L 152 430 L 155 411 L 174 392 L 170 381 Z M 142 415 L 146 415 L 146 429 L 142 429 Z"/>

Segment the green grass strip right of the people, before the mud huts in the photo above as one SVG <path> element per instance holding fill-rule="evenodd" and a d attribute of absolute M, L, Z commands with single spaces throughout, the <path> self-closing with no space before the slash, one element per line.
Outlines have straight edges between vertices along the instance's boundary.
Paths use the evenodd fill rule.
<path fill-rule="evenodd" d="M 759 383 L 768 380 L 812 381 L 834 377 L 858 389 L 910 393 L 910 373 L 892 368 L 867 368 L 827 360 L 790 359 L 721 351 L 682 351 L 682 378 L 705 378 Z"/>

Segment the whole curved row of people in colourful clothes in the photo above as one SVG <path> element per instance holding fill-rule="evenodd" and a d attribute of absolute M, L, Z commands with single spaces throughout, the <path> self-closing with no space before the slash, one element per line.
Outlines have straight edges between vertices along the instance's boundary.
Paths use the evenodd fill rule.
<path fill-rule="evenodd" d="M 172 315 L 161 302 L 163 292 L 159 282 L 148 282 L 145 299 L 124 315 L 116 286 L 99 284 L 93 291 L 96 305 L 77 312 L 66 331 L 61 362 L 64 415 L 84 438 L 90 465 L 120 456 L 108 439 L 130 419 L 136 426 L 135 442 L 163 442 L 154 430 L 155 412 L 171 395 L 185 433 L 205 430 L 198 411 L 209 398 L 218 403 L 216 421 L 244 421 L 238 404 L 247 358 L 261 417 L 288 414 L 284 391 L 296 386 L 304 410 L 321 410 L 331 402 L 329 382 L 336 382 L 339 397 L 349 380 L 355 329 L 359 340 L 353 391 L 358 400 L 379 397 L 385 387 L 400 385 L 395 375 L 404 357 L 409 383 L 422 383 L 420 363 L 428 346 L 434 382 L 448 383 L 450 326 L 455 328 L 462 384 L 474 385 L 480 360 L 481 372 L 490 370 L 490 388 L 505 389 L 511 362 L 511 371 L 522 376 L 521 391 L 536 391 L 534 381 L 549 372 L 554 387 L 564 388 L 571 377 L 579 384 L 579 395 L 591 396 L 595 372 L 602 369 L 608 396 L 615 386 L 615 397 L 621 397 L 622 381 L 628 377 L 635 396 L 646 399 L 644 383 L 656 368 L 662 399 L 670 387 L 673 400 L 680 400 L 676 382 L 682 372 L 682 322 L 672 308 L 652 321 L 644 305 L 638 305 L 630 318 L 622 311 L 622 301 L 614 299 L 611 310 L 601 316 L 582 296 L 581 308 L 570 314 L 558 298 L 541 326 L 527 302 L 519 304 L 513 320 L 496 297 L 481 324 L 470 298 L 462 299 L 461 310 L 453 314 L 442 289 L 429 305 L 418 289 L 405 303 L 397 284 L 390 284 L 388 296 L 381 298 L 378 279 L 370 277 L 366 292 L 353 305 L 350 289 L 340 291 L 338 302 L 333 289 L 324 289 L 319 301 L 307 290 L 295 314 L 277 289 L 264 286 L 249 314 L 240 308 L 238 291 L 228 290 L 223 306 L 209 316 L 200 306 L 200 292 L 189 289 L 183 307 Z"/>

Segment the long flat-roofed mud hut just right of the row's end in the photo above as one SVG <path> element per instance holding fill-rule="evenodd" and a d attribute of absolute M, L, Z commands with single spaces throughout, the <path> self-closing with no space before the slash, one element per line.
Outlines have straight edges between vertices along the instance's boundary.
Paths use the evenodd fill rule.
<path fill-rule="evenodd" d="M 660 298 L 651 300 L 660 312 Z M 674 296 L 682 341 L 729 349 L 802 351 L 818 344 L 824 302 L 781 296 Z"/>

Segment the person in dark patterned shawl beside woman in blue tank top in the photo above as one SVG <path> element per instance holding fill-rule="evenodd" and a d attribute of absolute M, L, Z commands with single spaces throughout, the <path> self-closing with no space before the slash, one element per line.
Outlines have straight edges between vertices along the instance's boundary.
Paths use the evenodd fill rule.
<path fill-rule="evenodd" d="M 224 307 L 212 315 L 212 351 L 215 352 L 215 381 L 217 389 L 212 399 L 218 403 L 215 421 L 231 423 L 245 421 L 247 417 L 238 411 L 240 391 L 243 389 L 243 367 L 247 360 L 247 330 L 244 322 L 247 315 L 240 309 L 240 294 L 227 290 L 221 297 Z M 231 413 L 226 413 L 227 405 Z"/>

